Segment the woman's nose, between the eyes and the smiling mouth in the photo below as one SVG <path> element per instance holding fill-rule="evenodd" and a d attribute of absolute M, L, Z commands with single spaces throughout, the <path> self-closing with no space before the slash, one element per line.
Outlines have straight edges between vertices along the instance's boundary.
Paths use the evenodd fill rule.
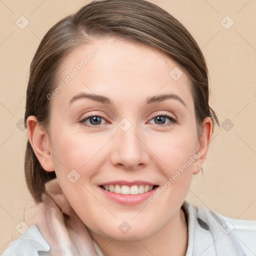
<path fill-rule="evenodd" d="M 149 163 L 149 149 L 145 136 L 132 125 L 123 131 L 117 128 L 117 134 L 112 141 L 110 161 L 113 165 L 124 169 L 136 170 Z"/>

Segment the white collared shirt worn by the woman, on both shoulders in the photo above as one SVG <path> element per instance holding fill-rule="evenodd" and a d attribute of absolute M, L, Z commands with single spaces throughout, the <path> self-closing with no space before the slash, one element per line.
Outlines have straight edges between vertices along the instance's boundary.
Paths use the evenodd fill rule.
<path fill-rule="evenodd" d="M 256 255 L 256 220 L 229 218 L 186 201 L 181 207 L 188 224 L 185 256 Z M 94 241 L 93 244 L 98 256 L 103 256 Z M 37 226 L 32 225 L 10 243 L 2 256 L 45 256 L 49 250 Z"/>

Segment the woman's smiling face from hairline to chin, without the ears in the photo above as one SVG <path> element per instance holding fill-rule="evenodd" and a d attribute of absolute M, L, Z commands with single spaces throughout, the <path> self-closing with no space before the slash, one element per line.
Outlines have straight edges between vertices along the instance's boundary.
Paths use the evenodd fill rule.
<path fill-rule="evenodd" d="M 200 142 L 177 68 L 156 50 L 112 37 L 63 61 L 48 95 L 49 147 L 60 187 L 92 234 L 142 238 L 179 218 Z"/>

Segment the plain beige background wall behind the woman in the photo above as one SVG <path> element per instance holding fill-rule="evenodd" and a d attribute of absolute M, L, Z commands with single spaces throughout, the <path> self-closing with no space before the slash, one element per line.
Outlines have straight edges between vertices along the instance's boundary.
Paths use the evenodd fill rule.
<path fill-rule="evenodd" d="M 203 174 L 193 176 L 186 199 L 222 215 L 256 219 L 256 1 L 151 2 L 179 19 L 201 47 L 209 68 L 211 106 L 223 126 L 215 130 Z M 83 4 L 0 0 L 0 250 L 19 235 L 15 226 L 30 200 L 23 175 L 27 135 L 20 126 L 30 61 L 45 32 Z M 23 29 L 15 23 L 22 15 L 29 21 Z M 227 131 L 226 118 L 233 123 Z"/>

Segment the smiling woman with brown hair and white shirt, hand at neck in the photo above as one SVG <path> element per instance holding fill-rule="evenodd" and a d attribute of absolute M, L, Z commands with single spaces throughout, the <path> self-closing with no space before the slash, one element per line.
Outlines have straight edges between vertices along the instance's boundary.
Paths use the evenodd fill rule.
<path fill-rule="evenodd" d="M 236 220 L 184 201 L 218 124 L 208 97 L 198 45 L 156 5 L 93 1 L 60 20 L 27 87 L 39 204 L 3 255 L 246 255 Z"/>

